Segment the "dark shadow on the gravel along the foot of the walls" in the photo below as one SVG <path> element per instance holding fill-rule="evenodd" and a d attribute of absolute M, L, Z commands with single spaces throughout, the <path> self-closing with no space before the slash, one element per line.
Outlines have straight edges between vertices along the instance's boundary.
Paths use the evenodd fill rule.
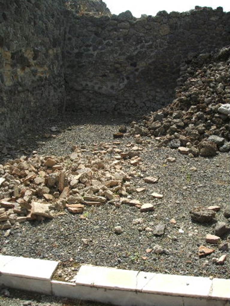
<path fill-rule="evenodd" d="M 47 119 L 46 123 L 36 123 L 31 129 L 27 129 L 20 137 L 13 137 L 8 142 L 0 140 L 0 163 L 4 163 L 9 159 L 16 159 L 22 155 L 30 156 L 33 151 L 48 143 L 52 138 L 58 136 L 66 130 L 73 129 L 73 126 L 79 125 L 128 125 L 132 121 L 138 121 L 140 116 L 123 115 L 112 117 L 109 114 L 81 114 L 81 113 L 66 113 L 65 116 Z M 51 130 L 56 127 L 56 131 Z"/>

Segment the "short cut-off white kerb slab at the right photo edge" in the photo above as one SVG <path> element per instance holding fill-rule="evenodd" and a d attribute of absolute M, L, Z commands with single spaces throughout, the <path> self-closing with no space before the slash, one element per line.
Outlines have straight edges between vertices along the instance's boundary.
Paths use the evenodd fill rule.
<path fill-rule="evenodd" d="M 230 305 L 230 279 L 213 278 L 212 289 L 210 297 L 218 300 L 228 300 Z"/>

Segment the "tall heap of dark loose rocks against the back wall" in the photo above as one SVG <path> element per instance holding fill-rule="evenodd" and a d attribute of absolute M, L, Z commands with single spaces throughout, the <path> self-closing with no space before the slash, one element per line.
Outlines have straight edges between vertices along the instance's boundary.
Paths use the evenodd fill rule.
<path fill-rule="evenodd" d="M 191 157 L 230 151 L 230 47 L 184 63 L 176 99 L 141 125 L 134 130 Z"/>

